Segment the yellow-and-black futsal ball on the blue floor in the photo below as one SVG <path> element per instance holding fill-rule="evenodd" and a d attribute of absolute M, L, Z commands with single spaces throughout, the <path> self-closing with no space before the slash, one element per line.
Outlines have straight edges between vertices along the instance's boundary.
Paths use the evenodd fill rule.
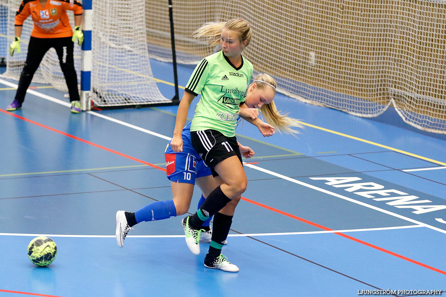
<path fill-rule="evenodd" d="M 28 256 L 37 266 L 53 263 L 57 255 L 56 243 L 49 237 L 39 236 L 28 244 Z"/>

